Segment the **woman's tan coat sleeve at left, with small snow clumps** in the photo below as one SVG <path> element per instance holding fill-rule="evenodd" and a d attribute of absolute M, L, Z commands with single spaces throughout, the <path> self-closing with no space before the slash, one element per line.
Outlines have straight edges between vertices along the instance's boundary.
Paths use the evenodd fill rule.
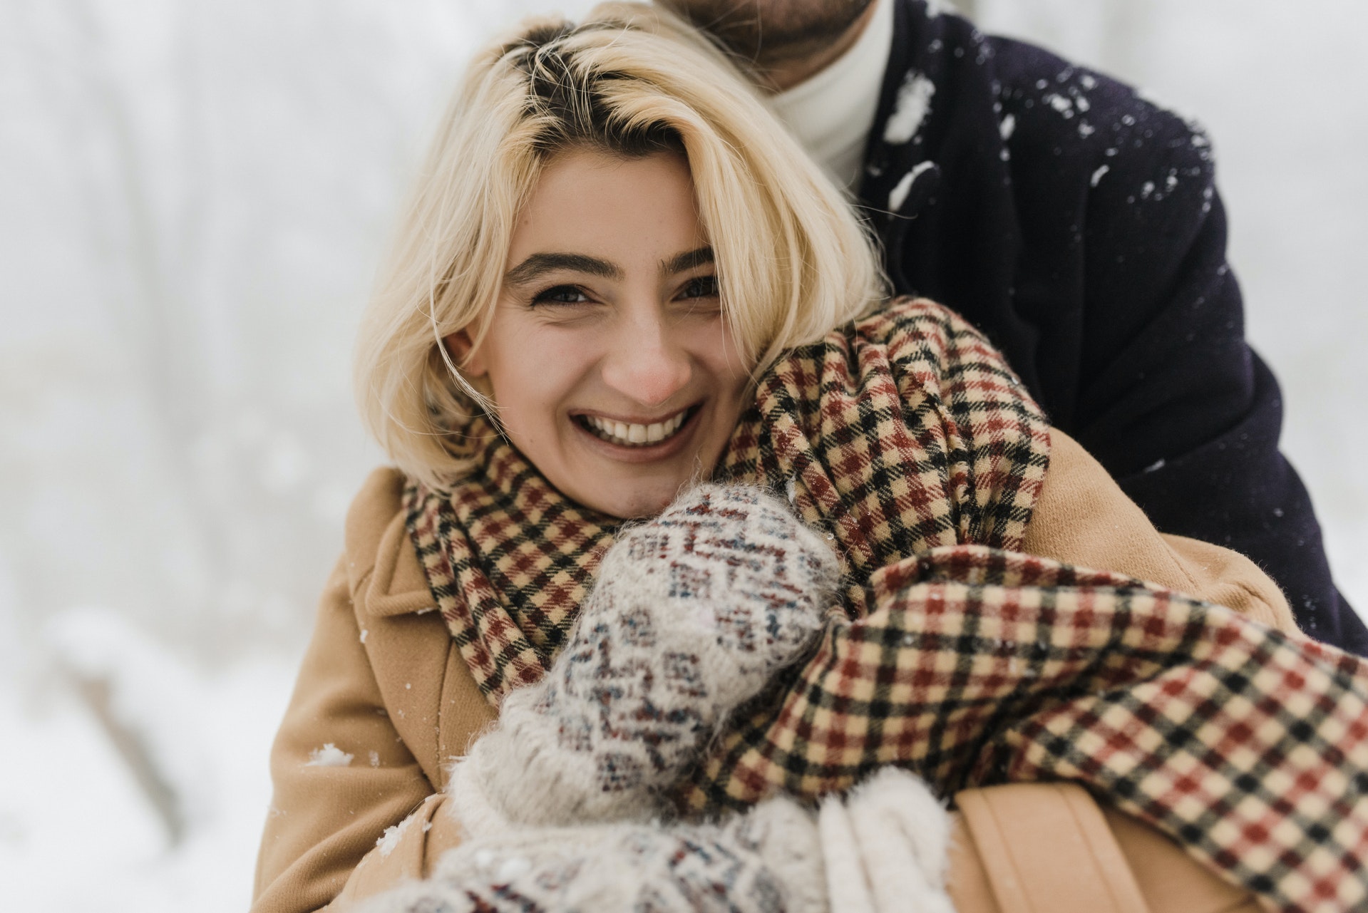
<path fill-rule="evenodd" d="M 345 562 L 323 592 L 271 750 L 271 778 L 253 913 L 346 909 L 399 879 L 425 876 L 458 842 L 445 794 L 390 722 Z"/>

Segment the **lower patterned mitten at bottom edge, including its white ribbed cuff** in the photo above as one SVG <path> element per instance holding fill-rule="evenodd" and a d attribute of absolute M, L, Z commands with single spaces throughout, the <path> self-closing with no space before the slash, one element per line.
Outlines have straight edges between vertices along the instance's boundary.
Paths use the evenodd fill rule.
<path fill-rule="evenodd" d="M 709 824 L 517 828 L 450 850 L 364 913 L 953 913 L 949 819 L 915 775 L 876 772 L 817 817 L 785 797 Z"/>

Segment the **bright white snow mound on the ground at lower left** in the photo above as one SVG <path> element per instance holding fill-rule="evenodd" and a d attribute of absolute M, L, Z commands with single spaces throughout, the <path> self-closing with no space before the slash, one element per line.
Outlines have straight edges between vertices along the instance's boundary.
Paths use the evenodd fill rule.
<path fill-rule="evenodd" d="M 0 775 L 10 785 L 0 789 L 0 905 L 31 913 L 245 910 L 271 813 L 271 739 L 297 657 L 194 668 L 104 608 L 64 614 L 36 652 L 52 663 L 51 675 L 21 682 L 12 668 L 0 670 Z M 111 683 L 115 716 L 179 798 L 179 842 L 59 667 Z"/>

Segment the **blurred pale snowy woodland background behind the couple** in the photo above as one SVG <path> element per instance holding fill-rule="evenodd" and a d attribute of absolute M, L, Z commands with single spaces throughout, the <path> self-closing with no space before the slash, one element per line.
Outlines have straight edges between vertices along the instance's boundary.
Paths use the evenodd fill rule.
<path fill-rule="evenodd" d="M 244 910 L 352 492 L 349 354 L 491 30 L 580 0 L 0 0 L 0 897 Z M 978 0 L 1207 124 L 1249 335 L 1368 605 L 1368 5 Z M 1290 320 L 1289 320 L 1290 318 Z"/>

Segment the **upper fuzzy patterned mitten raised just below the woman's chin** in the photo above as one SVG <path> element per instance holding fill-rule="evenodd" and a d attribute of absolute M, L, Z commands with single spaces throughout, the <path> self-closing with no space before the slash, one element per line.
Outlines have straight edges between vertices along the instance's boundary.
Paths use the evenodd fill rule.
<path fill-rule="evenodd" d="M 468 835 L 658 815 L 722 716 L 813 642 L 837 577 L 758 488 L 702 485 L 625 529 L 551 670 L 453 769 Z"/>

